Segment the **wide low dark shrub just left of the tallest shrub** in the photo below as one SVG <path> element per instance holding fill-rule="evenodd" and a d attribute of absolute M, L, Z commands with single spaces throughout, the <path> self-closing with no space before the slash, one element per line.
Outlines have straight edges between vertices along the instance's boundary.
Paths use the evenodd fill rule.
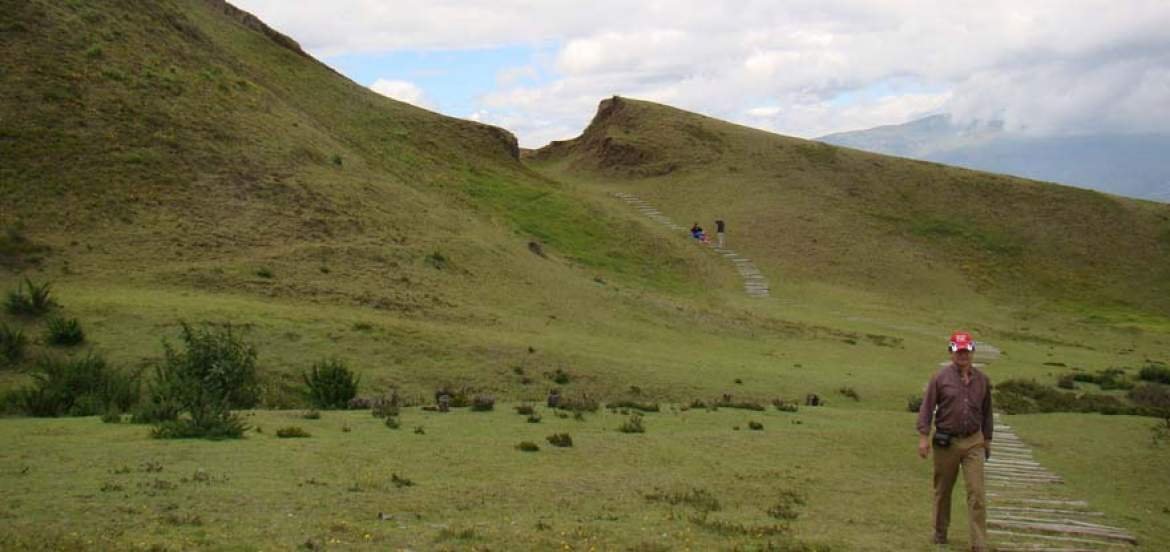
<path fill-rule="evenodd" d="M 139 398 L 137 374 L 124 374 L 104 359 L 89 354 L 37 363 L 33 385 L 18 391 L 20 408 L 33 416 L 91 416 L 125 412 Z"/>

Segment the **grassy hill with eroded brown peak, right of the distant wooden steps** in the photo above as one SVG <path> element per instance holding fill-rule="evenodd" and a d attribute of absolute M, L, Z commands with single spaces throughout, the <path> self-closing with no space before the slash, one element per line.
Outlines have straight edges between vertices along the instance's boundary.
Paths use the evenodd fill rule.
<path fill-rule="evenodd" d="M 1170 206 L 869 154 L 627 98 L 529 156 L 633 191 L 680 222 L 729 223 L 780 280 L 895 297 L 1170 312 Z"/>

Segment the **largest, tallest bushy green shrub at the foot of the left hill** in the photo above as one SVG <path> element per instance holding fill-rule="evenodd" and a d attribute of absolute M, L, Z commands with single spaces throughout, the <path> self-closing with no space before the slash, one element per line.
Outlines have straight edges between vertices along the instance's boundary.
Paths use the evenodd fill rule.
<path fill-rule="evenodd" d="M 239 437 L 247 429 L 233 408 L 250 408 L 259 399 L 256 350 L 230 325 L 181 324 L 183 350 L 164 341 L 152 395 L 190 418 L 161 422 L 159 437 Z"/>

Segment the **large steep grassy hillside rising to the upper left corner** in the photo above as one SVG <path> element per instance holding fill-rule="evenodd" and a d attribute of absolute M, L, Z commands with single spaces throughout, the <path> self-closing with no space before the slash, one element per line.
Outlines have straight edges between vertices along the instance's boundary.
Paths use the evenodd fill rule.
<path fill-rule="evenodd" d="M 0 30 L 0 283 L 53 282 L 119 363 L 178 319 L 234 322 L 276 372 L 343 354 L 372 384 L 516 394 L 529 345 L 596 354 L 549 351 L 550 324 L 620 334 L 644 301 L 673 320 L 734 290 L 508 132 L 381 97 L 225 2 L 18 2 Z"/>

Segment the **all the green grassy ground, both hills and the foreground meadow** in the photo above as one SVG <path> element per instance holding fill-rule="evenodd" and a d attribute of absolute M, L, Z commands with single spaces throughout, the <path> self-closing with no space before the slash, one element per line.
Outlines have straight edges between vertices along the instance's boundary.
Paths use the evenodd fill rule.
<path fill-rule="evenodd" d="M 632 101 L 589 147 L 521 161 L 507 132 L 374 95 L 212 0 L 20 2 L 0 54 L 0 294 L 50 283 L 85 332 L 54 346 L 46 318 L 0 313 L 28 339 L 0 394 L 42 357 L 149 374 L 183 322 L 238 326 L 264 385 L 238 441 L 9 408 L 0 548 L 928 550 L 907 400 L 951 331 L 1003 350 L 994 381 L 1170 360 L 1154 203 Z M 771 297 L 618 189 L 725 218 Z M 301 374 L 326 358 L 365 396 L 500 403 L 406 408 L 397 430 L 303 419 Z M 644 434 L 512 413 L 552 387 L 662 412 Z M 828 405 L 770 406 L 810 393 Z M 723 395 L 768 410 L 683 409 Z M 1012 423 L 1071 494 L 1170 545 L 1152 419 Z M 572 448 L 545 442 L 562 432 Z"/>

